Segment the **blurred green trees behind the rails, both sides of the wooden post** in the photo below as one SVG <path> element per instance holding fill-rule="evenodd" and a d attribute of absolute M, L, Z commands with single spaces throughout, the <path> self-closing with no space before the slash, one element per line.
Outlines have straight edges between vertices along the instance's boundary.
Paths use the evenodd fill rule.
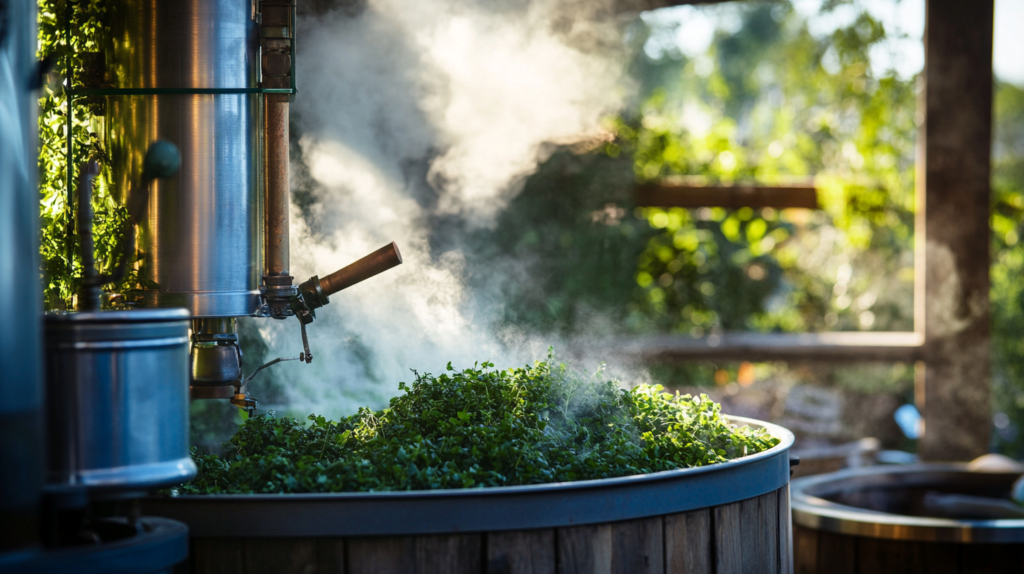
<path fill-rule="evenodd" d="M 814 17 L 840 7 L 855 16 L 812 33 Z M 702 53 L 679 50 L 678 23 L 633 24 L 639 89 L 608 119 L 608 140 L 553 153 L 497 226 L 477 232 L 472 242 L 482 247 L 469 269 L 520 270 L 498 285 L 486 271 L 475 277 L 501 293 L 499 321 L 566 338 L 912 330 L 919 80 L 884 68 L 905 36 L 851 1 L 822 2 L 813 16 L 787 2 L 699 9 L 717 18 Z M 1024 90 L 998 83 L 996 93 L 993 446 L 1024 456 Z M 631 191 L 645 181 L 812 177 L 818 211 L 644 208 Z M 652 372 L 710 385 L 721 366 Z M 728 368 L 735 381 L 736 365 Z M 909 365 L 865 372 L 814 377 L 856 379 L 912 401 Z"/>

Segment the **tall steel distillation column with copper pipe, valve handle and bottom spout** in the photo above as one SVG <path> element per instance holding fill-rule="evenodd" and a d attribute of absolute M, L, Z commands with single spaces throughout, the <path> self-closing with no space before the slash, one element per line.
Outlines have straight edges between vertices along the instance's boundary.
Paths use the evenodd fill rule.
<path fill-rule="evenodd" d="M 289 106 L 295 95 L 294 0 L 151 0 L 112 6 L 106 50 L 106 147 L 115 187 L 131 182 L 155 139 L 181 149 L 181 173 L 155 184 L 138 226 L 141 307 L 185 307 L 194 317 L 193 398 L 256 402 L 243 377 L 237 319 L 299 318 L 305 326 L 335 293 L 401 262 L 386 251 L 346 267 L 346 280 L 293 284 L 289 269 Z M 354 266 L 354 267 L 353 267 Z M 347 269 L 347 271 L 346 271 Z M 338 277 L 335 277 L 338 279 Z M 276 362 L 276 361 L 274 361 Z M 267 365 L 263 365 L 267 366 Z"/>

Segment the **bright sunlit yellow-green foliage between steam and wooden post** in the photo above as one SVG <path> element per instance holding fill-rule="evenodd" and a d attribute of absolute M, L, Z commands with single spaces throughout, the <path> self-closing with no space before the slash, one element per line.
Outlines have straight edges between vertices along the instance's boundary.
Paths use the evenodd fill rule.
<path fill-rule="evenodd" d="M 680 58 L 676 85 L 616 121 L 608 151 L 631 152 L 638 181 L 813 176 L 819 190 L 817 214 L 644 210 L 663 231 L 639 260 L 639 303 L 659 326 L 911 327 L 915 96 L 912 81 L 872 73 L 885 40 L 866 12 L 815 38 L 792 8 L 753 4 L 703 61 Z"/>

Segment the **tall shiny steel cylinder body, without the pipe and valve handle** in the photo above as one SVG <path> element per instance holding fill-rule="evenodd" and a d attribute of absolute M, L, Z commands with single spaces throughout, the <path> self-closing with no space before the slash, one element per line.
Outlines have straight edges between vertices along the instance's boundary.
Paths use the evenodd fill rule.
<path fill-rule="evenodd" d="M 146 90 L 106 97 L 105 146 L 115 192 L 126 202 L 156 139 L 181 150 L 181 171 L 154 181 L 138 246 L 145 307 L 196 317 L 259 307 L 263 211 L 258 28 L 250 0 L 154 0 L 111 6 L 105 80 Z"/>

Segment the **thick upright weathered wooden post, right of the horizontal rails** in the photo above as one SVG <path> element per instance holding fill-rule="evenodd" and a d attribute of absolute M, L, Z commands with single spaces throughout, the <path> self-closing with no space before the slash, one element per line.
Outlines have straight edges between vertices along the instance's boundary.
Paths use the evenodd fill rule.
<path fill-rule="evenodd" d="M 927 460 L 988 451 L 992 17 L 993 0 L 928 1 L 914 294 Z"/>

